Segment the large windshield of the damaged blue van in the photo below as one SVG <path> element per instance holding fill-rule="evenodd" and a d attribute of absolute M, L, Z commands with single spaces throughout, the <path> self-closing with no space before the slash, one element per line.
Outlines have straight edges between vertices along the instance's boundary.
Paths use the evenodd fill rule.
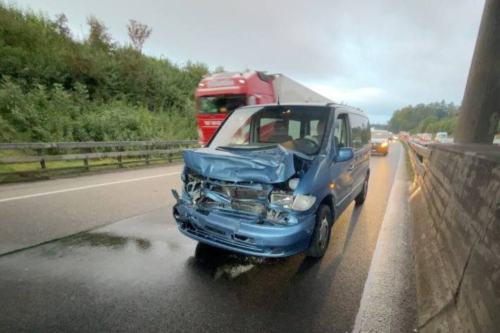
<path fill-rule="evenodd" d="M 318 153 L 330 108 L 324 106 L 256 106 L 230 115 L 210 146 L 268 146 L 307 155 Z"/>

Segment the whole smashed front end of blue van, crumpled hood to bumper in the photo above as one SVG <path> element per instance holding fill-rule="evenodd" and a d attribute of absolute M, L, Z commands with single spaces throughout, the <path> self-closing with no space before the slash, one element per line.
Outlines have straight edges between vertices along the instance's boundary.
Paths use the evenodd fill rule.
<path fill-rule="evenodd" d="M 185 150 L 182 194 L 173 216 L 180 232 L 256 256 L 291 256 L 308 247 L 316 198 L 299 184 L 312 159 L 280 144 Z"/>

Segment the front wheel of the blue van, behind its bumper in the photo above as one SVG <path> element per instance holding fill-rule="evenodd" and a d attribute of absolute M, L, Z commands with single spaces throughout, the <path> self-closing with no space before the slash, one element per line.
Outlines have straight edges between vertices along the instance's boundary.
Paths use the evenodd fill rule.
<path fill-rule="evenodd" d="M 314 225 L 313 236 L 308 249 L 304 251 L 306 256 L 321 258 L 325 255 L 330 243 L 330 233 L 332 232 L 332 211 L 327 205 L 320 205 L 316 211 L 316 223 Z"/>

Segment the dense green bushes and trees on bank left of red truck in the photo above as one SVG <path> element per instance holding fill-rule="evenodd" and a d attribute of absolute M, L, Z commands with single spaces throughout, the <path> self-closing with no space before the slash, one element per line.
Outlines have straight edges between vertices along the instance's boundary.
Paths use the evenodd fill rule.
<path fill-rule="evenodd" d="M 0 2 L 0 142 L 197 138 L 206 65 L 145 56 L 94 17 L 82 40 L 65 23 Z"/>

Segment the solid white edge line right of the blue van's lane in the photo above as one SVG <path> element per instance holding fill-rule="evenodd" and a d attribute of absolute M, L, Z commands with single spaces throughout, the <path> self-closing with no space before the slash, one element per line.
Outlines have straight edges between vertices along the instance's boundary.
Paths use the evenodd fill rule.
<path fill-rule="evenodd" d="M 401 147 L 401 149 L 403 149 Z M 398 180 L 398 173 L 399 173 L 399 168 L 401 167 L 401 161 L 403 160 L 403 152 L 399 152 L 399 160 L 398 160 L 398 165 L 396 166 L 396 170 L 394 172 L 394 180 L 392 182 L 391 186 L 391 193 L 389 194 L 389 202 L 387 203 L 387 207 L 385 208 L 385 214 L 384 214 L 384 220 L 382 220 L 382 225 L 380 225 L 380 231 L 378 232 L 378 237 L 377 237 L 377 245 L 375 246 L 375 251 L 373 251 L 373 257 L 372 257 L 372 263 L 370 264 L 370 270 L 368 271 L 368 277 L 366 278 L 365 281 L 365 287 L 363 288 L 363 296 L 361 296 L 361 302 L 359 304 L 359 309 L 358 313 L 356 314 L 356 320 L 354 320 L 354 329 L 352 330 L 353 333 L 359 333 L 361 332 L 361 320 L 363 320 L 363 314 L 365 313 L 365 308 L 368 306 L 368 303 L 370 303 L 370 294 L 371 294 L 371 289 L 372 289 L 372 280 L 373 276 L 375 275 L 375 268 L 377 267 L 377 262 L 380 257 L 380 251 L 382 248 L 382 234 L 386 232 L 386 225 L 388 224 L 387 220 L 389 220 L 389 216 L 392 211 L 392 203 L 394 202 L 394 196 L 396 191 L 394 191 L 395 184 L 399 181 Z"/>

